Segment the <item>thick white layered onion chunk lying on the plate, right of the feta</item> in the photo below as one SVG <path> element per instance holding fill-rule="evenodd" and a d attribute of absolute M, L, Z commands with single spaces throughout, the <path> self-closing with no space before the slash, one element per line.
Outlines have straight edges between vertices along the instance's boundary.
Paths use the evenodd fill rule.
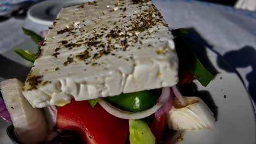
<path fill-rule="evenodd" d="M 181 106 L 174 98 L 174 106 L 167 112 L 165 122 L 173 130 L 213 129 L 215 118 L 209 107 L 199 97 L 184 97 L 188 105 Z"/>

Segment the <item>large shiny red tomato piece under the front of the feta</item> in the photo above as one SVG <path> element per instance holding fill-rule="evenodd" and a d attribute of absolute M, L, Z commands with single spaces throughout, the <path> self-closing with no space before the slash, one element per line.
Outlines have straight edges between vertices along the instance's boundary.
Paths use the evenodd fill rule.
<path fill-rule="evenodd" d="M 59 107 L 57 128 L 76 131 L 84 143 L 125 143 L 129 135 L 129 122 L 110 115 L 99 104 L 94 108 L 88 101 L 75 101 Z"/>

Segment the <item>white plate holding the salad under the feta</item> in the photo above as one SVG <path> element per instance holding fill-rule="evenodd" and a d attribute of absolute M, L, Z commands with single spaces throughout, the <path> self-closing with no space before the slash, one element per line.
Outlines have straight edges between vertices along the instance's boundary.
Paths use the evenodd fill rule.
<path fill-rule="evenodd" d="M 1 67 L 4 73 L 0 73 L 0 81 L 16 77 L 25 79 L 32 63 L 22 59 L 14 50 L 30 49 L 34 50 L 35 44 L 27 39 L 13 49 L 0 55 Z M 252 103 L 242 82 L 235 73 L 228 73 L 217 65 L 217 55 L 207 49 L 207 56 L 219 71 L 219 74 L 207 86 L 202 87 L 199 82 L 194 81 L 201 92 L 209 92 L 217 108 L 217 122 L 214 130 L 189 131 L 182 134 L 183 141 L 179 143 L 255 143 L 255 119 Z M 225 63 L 224 61 L 221 61 Z M 228 66 L 226 66 L 228 67 Z M 224 98 L 226 95 L 226 98 Z M 205 95 L 205 97 L 208 97 Z M 207 103 L 207 101 L 206 101 Z M 0 120 L 1 143 L 11 143 L 5 133 L 7 122 Z M 171 134 L 165 134 L 164 143 L 170 143 Z"/>

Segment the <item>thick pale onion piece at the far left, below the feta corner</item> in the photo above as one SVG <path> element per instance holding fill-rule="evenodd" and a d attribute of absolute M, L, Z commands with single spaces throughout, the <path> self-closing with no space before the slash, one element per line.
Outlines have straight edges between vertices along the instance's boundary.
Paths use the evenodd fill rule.
<path fill-rule="evenodd" d="M 40 143 L 48 134 L 43 109 L 31 106 L 22 94 L 24 84 L 17 79 L 0 82 L 3 99 L 10 112 L 15 134 L 21 143 Z"/>

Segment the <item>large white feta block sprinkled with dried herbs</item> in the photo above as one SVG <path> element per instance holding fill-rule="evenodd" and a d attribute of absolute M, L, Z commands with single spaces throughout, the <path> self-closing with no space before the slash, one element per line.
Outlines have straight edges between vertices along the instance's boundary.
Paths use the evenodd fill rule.
<path fill-rule="evenodd" d="M 33 107 L 63 106 L 176 85 L 173 35 L 148 0 L 99 0 L 63 8 L 28 74 Z"/>

